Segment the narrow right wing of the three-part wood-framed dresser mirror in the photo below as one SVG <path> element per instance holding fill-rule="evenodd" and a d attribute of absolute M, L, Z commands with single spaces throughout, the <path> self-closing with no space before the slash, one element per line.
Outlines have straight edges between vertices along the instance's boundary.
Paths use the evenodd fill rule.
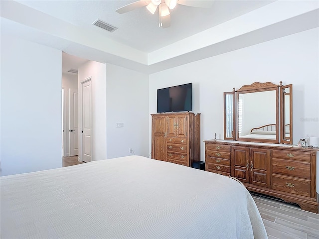
<path fill-rule="evenodd" d="M 283 143 L 293 143 L 291 135 L 293 134 L 293 85 L 281 87 L 280 102 L 281 108 L 281 141 Z"/>

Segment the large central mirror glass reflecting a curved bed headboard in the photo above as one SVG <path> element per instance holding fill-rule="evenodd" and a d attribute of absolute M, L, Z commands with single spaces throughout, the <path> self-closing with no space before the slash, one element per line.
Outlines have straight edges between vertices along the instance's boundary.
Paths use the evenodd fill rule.
<path fill-rule="evenodd" d="M 238 94 L 239 139 L 278 140 L 276 90 Z"/>

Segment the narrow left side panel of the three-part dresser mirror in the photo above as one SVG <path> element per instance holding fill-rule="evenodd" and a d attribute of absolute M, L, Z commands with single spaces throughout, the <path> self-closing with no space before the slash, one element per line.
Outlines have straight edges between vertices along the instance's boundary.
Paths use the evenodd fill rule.
<path fill-rule="evenodd" d="M 224 138 L 234 138 L 234 93 L 224 93 Z"/>

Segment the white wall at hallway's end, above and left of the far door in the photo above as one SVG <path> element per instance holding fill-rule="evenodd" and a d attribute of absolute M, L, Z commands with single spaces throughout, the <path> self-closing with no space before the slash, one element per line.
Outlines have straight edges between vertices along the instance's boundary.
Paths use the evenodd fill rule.
<path fill-rule="evenodd" d="M 62 87 L 65 88 L 65 115 L 64 115 L 64 156 L 69 156 L 69 109 L 70 89 L 78 89 L 78 75 L 62 74 Z"/>

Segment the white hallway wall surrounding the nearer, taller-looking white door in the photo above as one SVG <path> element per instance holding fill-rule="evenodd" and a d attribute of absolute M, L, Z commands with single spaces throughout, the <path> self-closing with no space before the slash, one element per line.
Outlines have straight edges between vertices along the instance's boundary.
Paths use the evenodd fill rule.
<path fill-rule="evenodd" d="M 82 161 L 82 84 L 91 78 L 92 161 L 106 159 L 106 65 L 88 61 L 79 67 L 79 159 Z"/>

